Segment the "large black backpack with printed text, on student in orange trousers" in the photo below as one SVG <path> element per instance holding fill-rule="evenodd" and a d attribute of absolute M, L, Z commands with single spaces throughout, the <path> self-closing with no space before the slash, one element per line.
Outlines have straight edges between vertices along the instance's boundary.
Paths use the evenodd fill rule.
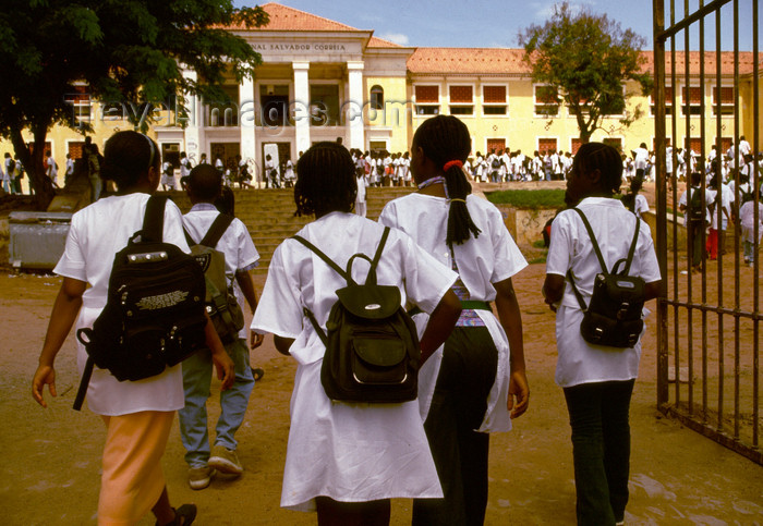
<path fill-rule="evenodd" d="M 162 243 L 166 203 L 148 199 L 143 228 L 114 257 L 106 307 L 92 329 L 76 333 L 88 355 L 77 411 L 94 365 L 119 381 L 142 380 L 206 345 L 204 272 L 193 256 Z"/>

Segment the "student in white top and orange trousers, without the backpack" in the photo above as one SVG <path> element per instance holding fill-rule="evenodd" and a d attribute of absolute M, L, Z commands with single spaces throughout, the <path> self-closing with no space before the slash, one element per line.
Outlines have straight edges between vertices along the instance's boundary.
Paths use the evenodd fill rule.
<path fill-rule="evenodd" d="M 44 407 L 47 407 L 43 396 L 46 384 L 56 396 L 56 355 L 74 321 L 77 329 L 93 327 L 106 305 L 114 255 L 141 230 L 149 194 L 159 185 L 160 166 L 157 146 L 145 135 L 118 132 L 106 143 L 101 176 L 114 181 L 119 192 L 72 216 L 65 249 L 55 269 L 63 282 L 32 381 L 33 397 Z M 189 252 L 182 224 L 180 210 L 168 201 L 164 240 Z M 218 377 L 222 379 L 221 388 L 226 390 L 233 382 L 233 364 L 211 322 L 207 323 L 206 335 Z M 81 371 L 86 359 L 87 353 L 80 343 Z M 120 382 L 106 369 L 93 371 L 87 405 L 101 415 L 107 427 L 99 524 L 135 524 L 149 510 L 156 515 L 157 524 L 191 524 L 196 507 L 170 506 L 161 470 L 174 412 L 183 404 L 180 365 L 140 381 Z"/>

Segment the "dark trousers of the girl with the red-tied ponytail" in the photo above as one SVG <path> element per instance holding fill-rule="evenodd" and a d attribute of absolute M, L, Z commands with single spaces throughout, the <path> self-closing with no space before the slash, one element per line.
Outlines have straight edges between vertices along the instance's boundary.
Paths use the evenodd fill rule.
<path fill-rule="evenodd" d="M 414 526 L 482 525 L 487 506 L 489 435 L 476 432 L 485 417 L 498 353 L 484 327 L 457 327 L 424 423 L 444 499 L 415 499 Z"/>

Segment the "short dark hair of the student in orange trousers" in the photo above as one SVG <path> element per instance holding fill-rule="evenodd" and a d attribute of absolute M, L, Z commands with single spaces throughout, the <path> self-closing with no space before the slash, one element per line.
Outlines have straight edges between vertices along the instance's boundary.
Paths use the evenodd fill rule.
<path fill-rule="evenodd" d="M 100 179 L 126 189 L 135 186 L 149 168 L 159 170 L 160 164 L 161 156 L 150 137 L 133 131 L 117 132 L 104 147 Z"/>

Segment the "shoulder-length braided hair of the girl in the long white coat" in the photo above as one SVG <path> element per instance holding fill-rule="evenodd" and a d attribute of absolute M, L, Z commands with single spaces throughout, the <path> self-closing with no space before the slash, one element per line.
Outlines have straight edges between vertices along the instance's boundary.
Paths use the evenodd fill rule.
<path fill-rule="evenodd" d="M 356 194 L 355 164 L 342 145 L 317 143 L 296 161 L 296 216 L 350 212 Z"/>

